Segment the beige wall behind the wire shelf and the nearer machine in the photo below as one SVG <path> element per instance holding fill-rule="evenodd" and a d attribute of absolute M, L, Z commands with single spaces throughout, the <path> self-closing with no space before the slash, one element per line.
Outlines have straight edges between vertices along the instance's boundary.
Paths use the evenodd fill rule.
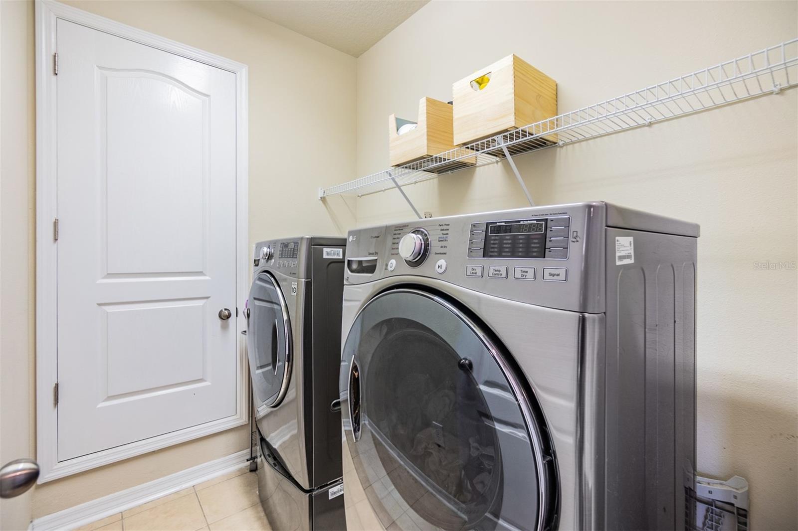
<path fill-rule="evenodd" d="M 796 37 L 796 2 L 431 2 L 358 58 L 358 175 L 388 167 L 386 116 L 509 53 L 573 110 Z M 740 474 L 754 529 L 796 529 L 798 89 L 516 160 L 536 203 L 607 200 L 701 224 L 698 469 Z M 407 188 L 435 215 L 523 207 L 508 167 Z M 412 218 L 396 191 L 358 225 Z M 741 220 L 749 220 L 743 222 Z"/>

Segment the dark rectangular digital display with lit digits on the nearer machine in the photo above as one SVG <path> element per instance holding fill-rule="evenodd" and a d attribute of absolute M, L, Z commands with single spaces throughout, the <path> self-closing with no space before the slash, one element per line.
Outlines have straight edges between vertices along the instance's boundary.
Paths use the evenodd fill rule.
<path fill-rule="evenodd" d="M 544 258 L 546 256 L 545 220 L 488 223 L 484 258 Z"/>

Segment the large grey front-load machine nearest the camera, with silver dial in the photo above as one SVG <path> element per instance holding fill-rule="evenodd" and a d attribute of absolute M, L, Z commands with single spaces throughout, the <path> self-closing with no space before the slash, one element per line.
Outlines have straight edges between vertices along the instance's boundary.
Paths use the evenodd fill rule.
<path fill-rule="evenodd" d="M 352 521 L 684 529 L 697 236 L 607 203 L 351 231 Z"/>

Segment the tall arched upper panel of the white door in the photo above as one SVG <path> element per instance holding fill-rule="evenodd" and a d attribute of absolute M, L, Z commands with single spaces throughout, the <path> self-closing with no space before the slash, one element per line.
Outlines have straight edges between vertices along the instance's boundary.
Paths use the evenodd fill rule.
<path fill-rule="evenodd" d="M 160 73 L 97 69 L 108 273 L 206 271 L 209 104 Z"/>

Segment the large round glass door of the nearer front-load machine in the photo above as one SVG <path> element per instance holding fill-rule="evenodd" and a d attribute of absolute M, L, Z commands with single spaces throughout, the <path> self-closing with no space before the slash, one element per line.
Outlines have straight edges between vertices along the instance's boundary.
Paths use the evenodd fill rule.
<path fill-rule="evenodd" d="M 508 357 L 456 305 L 417 289 L 374 297 L 350 329 L 340 385 L 354 469 L 385 528 L 555 524 L 542 415 Z"/>

